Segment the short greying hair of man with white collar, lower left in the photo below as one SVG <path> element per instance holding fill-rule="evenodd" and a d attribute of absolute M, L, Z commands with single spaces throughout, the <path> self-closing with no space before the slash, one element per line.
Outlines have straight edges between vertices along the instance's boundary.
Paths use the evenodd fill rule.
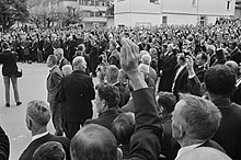
<path fill-rule="evenodd" d="M 38 126 L 47 126 L 51 112 L 44 101 L 34 100 L 27 104 L 26 116 Z"/>

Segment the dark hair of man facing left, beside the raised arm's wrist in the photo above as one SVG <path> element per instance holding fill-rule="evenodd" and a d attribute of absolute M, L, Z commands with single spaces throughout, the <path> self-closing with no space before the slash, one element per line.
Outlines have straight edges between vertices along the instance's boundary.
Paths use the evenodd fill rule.
<path fill-rule="evenodd" d="M 116 107 L 119 103 L 119 90 L 112 84 L 103 84 L 97 87 L 97 93 L 101 100 L 105 100 L 107 106 Z"/>

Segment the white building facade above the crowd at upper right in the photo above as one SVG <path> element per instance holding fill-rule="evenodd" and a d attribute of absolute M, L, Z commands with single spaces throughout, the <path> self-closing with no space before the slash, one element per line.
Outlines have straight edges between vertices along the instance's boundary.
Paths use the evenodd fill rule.
<path fill-rule="evenodd" d="M 115 25 L 209 24 L 234 8 L 236 0 L 115 0 Z"/>

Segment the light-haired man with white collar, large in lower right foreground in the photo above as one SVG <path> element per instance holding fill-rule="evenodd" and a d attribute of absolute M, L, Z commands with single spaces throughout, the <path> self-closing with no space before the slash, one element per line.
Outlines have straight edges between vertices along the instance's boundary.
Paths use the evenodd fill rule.
<path fill-rule="evenodd" d="M 172 118 L 172 136 L 181 145 L 176 160 L 198 147 L 213 147 L 225 152 L 220 145 L 210 140 L 217 132 L 221 113 L 208 100 L 182 94 Z"/>

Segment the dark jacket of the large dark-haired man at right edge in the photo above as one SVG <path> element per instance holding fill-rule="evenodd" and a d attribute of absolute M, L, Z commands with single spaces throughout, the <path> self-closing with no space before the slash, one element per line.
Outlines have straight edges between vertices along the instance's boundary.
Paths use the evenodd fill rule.
<path fill-rule="evenodd" d="M 222 118 L 213 139 L 223 147 L 233 160 L 241 159 L 241 106 L 229 99 L 213 100 L 221 112 Z"/>

